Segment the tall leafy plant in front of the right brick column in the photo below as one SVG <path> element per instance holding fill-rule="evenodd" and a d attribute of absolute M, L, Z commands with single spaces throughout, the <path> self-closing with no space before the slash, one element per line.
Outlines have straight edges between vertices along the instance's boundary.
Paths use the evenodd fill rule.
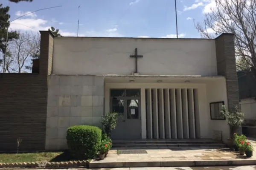
<path fill-rule="evenodd" d="M 229 112 L 226 110 L 225 105 L 222 105 L 221 116 L 226 118 L 227 124 L 230 127 L 230 138 L 227 138 L 227 145 L 233 148 L 234 136 L 238 127 L 241 127 L 244 123 L 244 113 L 241 113 L 239 108 L 236 106 L 234 112 Z"/>

